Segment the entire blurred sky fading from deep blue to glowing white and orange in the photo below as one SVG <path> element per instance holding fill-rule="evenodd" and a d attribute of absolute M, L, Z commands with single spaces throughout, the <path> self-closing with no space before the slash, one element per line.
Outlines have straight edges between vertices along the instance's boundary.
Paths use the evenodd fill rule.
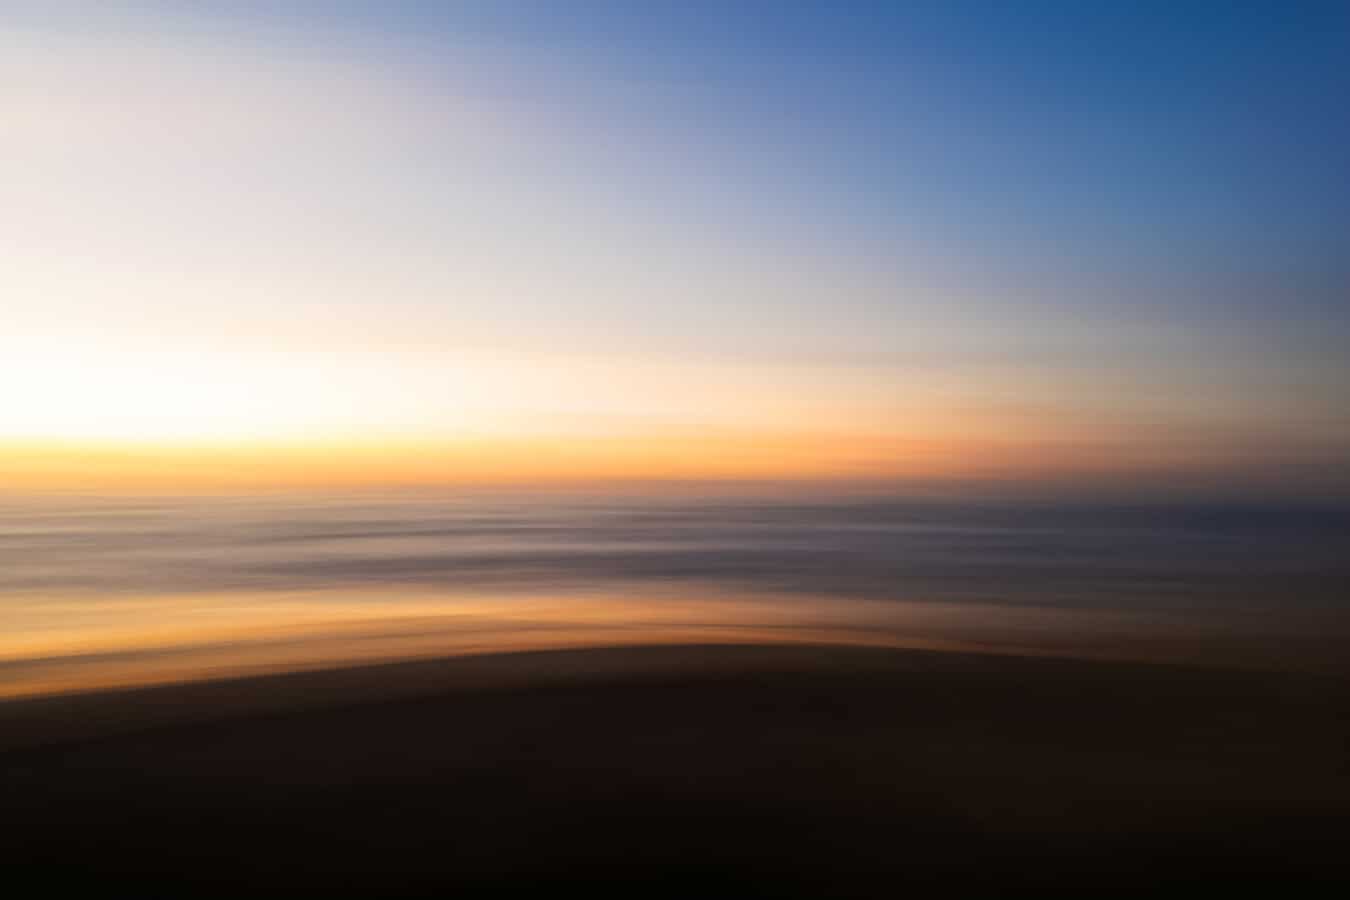
<path fill-rule="evenodd" d="M 1342 3 L 0 0 L 0 476 L 1346 497 L 1347 61 Z"/>

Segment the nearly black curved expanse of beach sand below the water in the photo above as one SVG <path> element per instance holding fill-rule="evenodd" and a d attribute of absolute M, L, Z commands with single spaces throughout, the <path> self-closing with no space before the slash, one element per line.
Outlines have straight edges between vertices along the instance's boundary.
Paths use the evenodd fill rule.
<path fill-rule="evenodd" d="M 14 702 L 0 735 L 14 896 L 1350 884 L 1338 676 L 559 650 Z"/>

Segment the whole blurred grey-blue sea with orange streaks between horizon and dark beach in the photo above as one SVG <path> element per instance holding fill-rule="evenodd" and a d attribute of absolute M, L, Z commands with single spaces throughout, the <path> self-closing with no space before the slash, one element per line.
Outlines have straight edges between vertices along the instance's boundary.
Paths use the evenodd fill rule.
<path fill-rule="evenodd" d="M 1350 510 L 702 491 L 0 498 L 0 696 L 826 641 L 1350 660 Z"/>

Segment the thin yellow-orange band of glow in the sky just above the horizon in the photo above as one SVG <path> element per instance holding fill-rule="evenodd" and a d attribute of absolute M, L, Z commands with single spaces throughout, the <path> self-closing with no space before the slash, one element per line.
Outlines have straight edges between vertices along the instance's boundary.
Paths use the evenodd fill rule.
<path fill-rule="evenodd" d="M 1100 449 L 1100 448 L 1098 448 Z M 1084 474 L 1073 441 L 676 430 L 302 443 L 0 443 L 11 490 L 231 490 L 671 480 L 944 480 Z"/>

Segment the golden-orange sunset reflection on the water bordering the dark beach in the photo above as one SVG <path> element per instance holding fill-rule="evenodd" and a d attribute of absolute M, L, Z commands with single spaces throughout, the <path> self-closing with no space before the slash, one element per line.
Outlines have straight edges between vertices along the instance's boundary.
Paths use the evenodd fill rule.
<path fill-rule="evenodd" d="M 1214 652 L 1184 622 L 1119 611 L 659 590 L 32 598 L 9 603 L 7 618 L 0 698 L 612 645 L 849 644 L 1191 661 Z"/>

